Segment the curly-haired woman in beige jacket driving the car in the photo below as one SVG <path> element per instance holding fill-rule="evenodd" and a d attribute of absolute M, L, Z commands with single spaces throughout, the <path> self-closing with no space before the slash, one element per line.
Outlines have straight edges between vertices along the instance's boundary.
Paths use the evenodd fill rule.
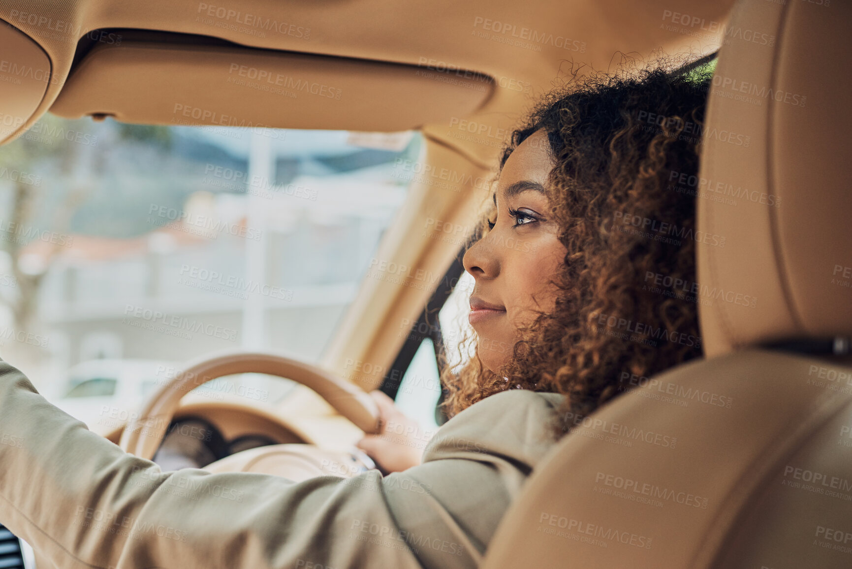
<path fill-rule="evenodd" d="M 696 335 L 694 301 L 655 275 L 694 280 L 694 240 L 659 224 L 681 237 L 693 227 L 694 200 L 670 181 L 697 171 L 698 141 L 682 135 L 700 125 L 708 84 L 707 73 L 594 78 L 515 132 L 489 229 L 464 257 L 476 357 L 445 378 L 456 416 L 423 464 L 299 483 L 162 473 L 0 363 L 0 523 L 56 566 L 477 566 L 569 416 L 699 354 L 672 341 Z M 504 247 L 509 236 L 531 247 Z M 389 441 L 364 444 L 375 443 Z M 407 466 L 386 450 L 373 454 L 387 470 Z"/>

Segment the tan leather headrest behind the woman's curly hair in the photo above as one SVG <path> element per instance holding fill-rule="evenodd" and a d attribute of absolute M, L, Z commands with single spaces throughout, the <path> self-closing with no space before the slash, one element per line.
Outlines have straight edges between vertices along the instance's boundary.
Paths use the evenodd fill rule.
<path fill-rule="evenodd" d="M 685 184 L 713 236 L 697 247 L 705 355 L 848 338 L 852 3 L 746 0 L 724 32 Z"/>

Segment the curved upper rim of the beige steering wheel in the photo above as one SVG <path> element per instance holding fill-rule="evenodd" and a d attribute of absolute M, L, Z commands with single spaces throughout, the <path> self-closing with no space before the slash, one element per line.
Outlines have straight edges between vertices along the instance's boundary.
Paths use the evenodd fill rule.
<path fill-rule="evenodd" d="M 151 460 L 187 392 L 223 375 L 242 373 L 277 375 L 308 386 L 355 427 L 365 433 L 378 432 L 376 402 L 360 387 L 290 357 L 268 352 L 233 352 L 188 363 L 181 373 L 154 392 L 139 416 L 124 427 L 119 445 L 126 452 Z"/>

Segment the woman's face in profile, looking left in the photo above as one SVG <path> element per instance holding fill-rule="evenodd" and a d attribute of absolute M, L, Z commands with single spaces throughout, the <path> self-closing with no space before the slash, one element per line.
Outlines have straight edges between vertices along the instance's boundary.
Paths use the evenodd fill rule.
<path fill-rule="evenodd" d="M 556 303 L 551 280 L 566 249 L 544 191 L 553 165 L 544 131 L 521 142 L 500 173 L 492 229 L 464 253 L 464 269 L 476 281 L 469 321 L 482 363 L 495 373 L 512 357 L 517 328 Z"/>

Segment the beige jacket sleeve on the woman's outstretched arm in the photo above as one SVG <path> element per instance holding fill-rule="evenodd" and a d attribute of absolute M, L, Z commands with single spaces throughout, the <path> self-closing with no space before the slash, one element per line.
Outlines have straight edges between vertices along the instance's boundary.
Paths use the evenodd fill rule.
<path fill-rule="evenodd" d="M 525 393 L 459 414 L 405 473 L 296 483 L 161 472 L 0 362 L 0 523 L 57 567 L 475 567 L 552 445 L 544 423 L 553 400 Z M 515 425 L 495 429 L 495 417 Z"/>

